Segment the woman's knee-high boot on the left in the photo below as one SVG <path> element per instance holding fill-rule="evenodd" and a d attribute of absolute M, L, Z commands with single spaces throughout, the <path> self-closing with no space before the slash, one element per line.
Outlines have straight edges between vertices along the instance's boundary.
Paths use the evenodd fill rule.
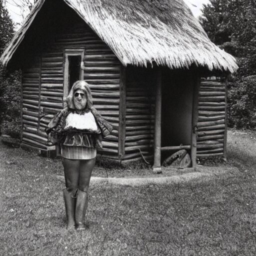
<path fill-rule="evenodd" d="M 75 196 L 72 195 L 66 188 L 63 189 L 63 197 L 66 209 L 66 228 L 74 228 L 74 210 L 75 210 Z"/>

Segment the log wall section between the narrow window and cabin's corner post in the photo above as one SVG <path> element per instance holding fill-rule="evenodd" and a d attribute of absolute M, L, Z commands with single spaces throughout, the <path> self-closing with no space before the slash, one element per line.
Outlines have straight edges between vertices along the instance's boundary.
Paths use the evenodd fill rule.
<path fill-rule="evenodd" d="M 98 153 L 103 157 L 118 159 L 120 62 L 92 31 L 87 36 L 84 80 L 90 84 L 95 108 L 113 126 L 111 134 L 103 139 L 103 148 Z"/>

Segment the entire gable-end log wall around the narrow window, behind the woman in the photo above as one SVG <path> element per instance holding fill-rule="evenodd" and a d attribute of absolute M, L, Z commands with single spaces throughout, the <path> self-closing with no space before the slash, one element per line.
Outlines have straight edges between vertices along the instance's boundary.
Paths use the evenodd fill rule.
<path fill-rule="evenodd" d="M 84 48 L 84 79 L 94 106 L 114 127 L 99 153 L 118 159 L 119 60 L 84 22 L 59 32 L 45 48 L 37 62 L 23 71 L 23 142 L 42 149 L 51 146 L 44 129 L 63 107 L 63 52 Z"/>

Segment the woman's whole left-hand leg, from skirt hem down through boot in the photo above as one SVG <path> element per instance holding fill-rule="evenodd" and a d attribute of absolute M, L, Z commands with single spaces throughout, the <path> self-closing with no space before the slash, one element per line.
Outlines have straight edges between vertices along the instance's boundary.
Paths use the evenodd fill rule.
<path fill-rule="evenodd" d="M 63 189 L 63 196 L 66 209 L 66 228 L 74 228 L 74 210 L 75 210 L 75 196 L 78 187 L 79 178 L 79 160 L 70 160 L 62 158 L 65 175 L 66 188 Z"/>

